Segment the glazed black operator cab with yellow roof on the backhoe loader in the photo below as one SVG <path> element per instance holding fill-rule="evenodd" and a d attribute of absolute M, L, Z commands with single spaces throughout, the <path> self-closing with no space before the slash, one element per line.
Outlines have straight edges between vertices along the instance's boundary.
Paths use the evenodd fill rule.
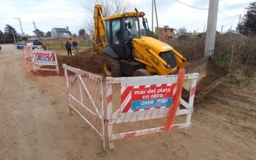
<path fill-rule="evenodd" d="M 147 36 L 147 28 L 142 26 L 139 31 L 138 27 L 138 24 L 142 22 L 143 17 L 140 17 L 140 22 L 138 22 L 137 17 L 125 17 L 125 15 L 131 16 L 136 14 L 124 13 L 123 15 L 120 15 L 120 17 L 104 18 L 106 46 L 111 47 L 115 51 L 111 53 L 109 52 L 109 56 L 114 59 L 132 58 L 132 39 L 139 37 L 139 32 L 141 32 L 141 36 Z M 143 12 L 141 12 L 141 15 L 143 15 Z"/>

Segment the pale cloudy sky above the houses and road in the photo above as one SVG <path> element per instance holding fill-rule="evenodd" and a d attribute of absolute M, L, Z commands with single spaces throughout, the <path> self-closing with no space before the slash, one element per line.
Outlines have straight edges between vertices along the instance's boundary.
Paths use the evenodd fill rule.
<path fill-rule="evenodd" d="M 83 3 L 86 0 L 0 0 L 0 30 L 4 31 L 6 24 L 13 26 L 18 33 L 21 33 L 19 20 L 25 34 L 33 35 L 33 21 L 36 28 L 44 31 L 51 31 L 52 28 L 65 28 L 68 26 L 72 33 L 78 34 L 79 29 L 86 28 L 85 10 Z M 152 22 L 152 1 L 151 0 L 129 0 L 139 11 L 145 12 L 148 19 L 148 26 L 151 29 Z M 197 8 L 208 8 L 209 0 L 179 0 Z M 253 0 L 219 0 L 219 13 L 217 30 L 223 32 L 236 29 L 239 22 L 239 15 L 242 17 L 246 6 Z M 86 3 L 85 3 L 86 4 Z M 157 16 L 159 27 L 169 26 L 179 29 L 185 27 L 188 31 L 204 31 L 207 26 L 207 10 L 190 8 L 174 0 L 156 0 Z M 156 16 L 154 15 L 154 27 L 156 27 Z"/>

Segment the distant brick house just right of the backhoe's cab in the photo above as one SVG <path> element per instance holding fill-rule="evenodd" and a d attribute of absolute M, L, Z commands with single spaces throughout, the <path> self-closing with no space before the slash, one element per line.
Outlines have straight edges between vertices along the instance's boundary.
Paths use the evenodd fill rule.
<path fill-rule="evenodd" d="M 170 40 L 174 36 L 174 28 L 164 26 L 164 28 L 156 28 L 156 35 L 159 35 L 161 40 Z"/>

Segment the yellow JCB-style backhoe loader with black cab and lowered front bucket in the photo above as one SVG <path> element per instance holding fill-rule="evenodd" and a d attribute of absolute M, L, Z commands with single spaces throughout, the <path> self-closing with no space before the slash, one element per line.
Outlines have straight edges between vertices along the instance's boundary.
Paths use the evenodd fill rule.
<path fill-rule="evenodd" d="M 144 16 L 144 12 L 136 10 L 102 17 L 102 6 L 95 5 L 93 47 L 103 55 L 101 67 L 104 76 L 169 75 L 186 67 L 186 73 L 200 74 L 198 83 L 204 79 L 205 83 L 202 81 L 199 87 L 202 92 L 197 90 L 196 93 L 202 97 L 220 83 L 221 77 L 227 75 L 211 58 L 189 65 L 188 60 L 173 47 L 149 36 Z M 184 88 L 189 90 L 186 84 Z"/>

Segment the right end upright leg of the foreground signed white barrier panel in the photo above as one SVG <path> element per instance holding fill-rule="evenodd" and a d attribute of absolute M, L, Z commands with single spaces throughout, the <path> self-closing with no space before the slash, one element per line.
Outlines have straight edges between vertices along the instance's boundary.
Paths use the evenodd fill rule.
<path fill-rule="evenodd" d="M 189 110 L 191 111 L 191 113 L 188 113 L 186 116 L 186 124 L 190 124 L 191 122 L 191 116 L 192 116 L 192 112 L 193 112 L 193 104 L 194 104 L 194 99 L 195 99 L 195 92 L 196 92 L 196 80 L 197 79 L 193 79 L 192 83 L 191 83 L 191 88 L 190 88 L 190 92 L 189 92 Z M 185 127 L 184 128 L 184 134 L 188 135 L 188 129 L 189 127 Z"/>

